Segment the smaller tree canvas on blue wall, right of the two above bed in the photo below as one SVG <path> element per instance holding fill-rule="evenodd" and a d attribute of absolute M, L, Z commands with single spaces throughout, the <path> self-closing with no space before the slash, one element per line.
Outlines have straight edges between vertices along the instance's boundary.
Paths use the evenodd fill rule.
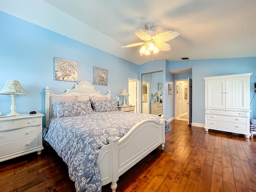
<path fill-rule="evenodd" d="M 93 84 L 108 85 L 108 70 L 93 67 Z"/>

